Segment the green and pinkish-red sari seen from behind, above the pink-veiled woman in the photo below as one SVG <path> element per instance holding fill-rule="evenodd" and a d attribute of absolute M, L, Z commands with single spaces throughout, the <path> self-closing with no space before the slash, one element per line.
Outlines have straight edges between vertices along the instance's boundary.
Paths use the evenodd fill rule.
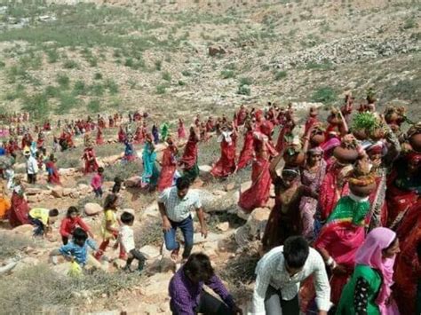
<path fill-rule="evenodd" d="M 355 254 L 365 240 L 368 200 L 352 193 L 342 197 L 314 241 L 314 248 L 327 250 L 333 260 L 346 269 L 346 274 L 332 274 L 330 278 L 332 303 L 338 304 L 342 289 L 353 274 Z"/>

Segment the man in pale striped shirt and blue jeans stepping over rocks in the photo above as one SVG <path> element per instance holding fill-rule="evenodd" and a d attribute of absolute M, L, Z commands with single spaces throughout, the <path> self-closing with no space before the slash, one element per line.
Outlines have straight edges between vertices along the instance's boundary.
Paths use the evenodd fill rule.
<path fill-rule="evenodd" d="M 176 240 L 176 232 L 179 228 L 183 233 L 185 247 L 183 260 L 187 260 L 193 249 L 193 225 L 192 210 L 196 210 L 201 224 L 201 232 L 206 238 L 208 231 L 204 221 L 202 202 L 199 195 L 189 190 L 190 180 L 187 177 L 179 177 L 175 187 L 167 188 L 160 194 L 158 199 L 159 212 L 163 217 L 163 238 L 165 247 L 171 250 L 171 258 L 179 257 L 179 242 Z"/>

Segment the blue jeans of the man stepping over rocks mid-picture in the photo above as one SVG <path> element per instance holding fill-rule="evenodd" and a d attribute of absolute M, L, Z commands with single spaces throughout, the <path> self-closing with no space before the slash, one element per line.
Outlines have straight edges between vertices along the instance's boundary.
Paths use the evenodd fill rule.
<path fill-rule="evenodd" d="M 176 232 L 179 228 L 184 237 L 183 258 L 188 258 L 193 249 L 193 234 L 195 232 L 193 227 L 193 218 L 189 216 L 181 222 L 173 222 L 170 220 L 170 223 L 171 230 L 168 232 L 163 232 L 165 247 L 167 250 L 179 249 L 179 242 L 176 240 Z"/>

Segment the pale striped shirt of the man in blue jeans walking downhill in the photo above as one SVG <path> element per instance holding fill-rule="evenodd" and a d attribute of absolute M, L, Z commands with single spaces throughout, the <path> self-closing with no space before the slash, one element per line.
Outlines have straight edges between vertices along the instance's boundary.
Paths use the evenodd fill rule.
<path fill-rule="evenodd" d="M 172 222 L 181 222 L 190 216 L 191 211 L 202 208 L 197 192 L 189 190 L 183 199 L 179 199 L 177 187 L 165 189 L 159 195 L 158 202 L 163 203 L 166 215 Z"/>

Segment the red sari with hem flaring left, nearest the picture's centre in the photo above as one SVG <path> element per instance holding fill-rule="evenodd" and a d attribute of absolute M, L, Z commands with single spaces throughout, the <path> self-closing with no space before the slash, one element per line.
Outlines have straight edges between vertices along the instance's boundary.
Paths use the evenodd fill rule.
<path fill-rule="evenodd" d="M 220 137 L 223 136 L 221 135 Z M 234 173 L 237 136 L 233 133 L 231 137 L 231 142 L 227 142 L 224 137 L 221 141 L 221 157 L 211 170 L 211 174 L 214 177 L 227 177 Z"/>

